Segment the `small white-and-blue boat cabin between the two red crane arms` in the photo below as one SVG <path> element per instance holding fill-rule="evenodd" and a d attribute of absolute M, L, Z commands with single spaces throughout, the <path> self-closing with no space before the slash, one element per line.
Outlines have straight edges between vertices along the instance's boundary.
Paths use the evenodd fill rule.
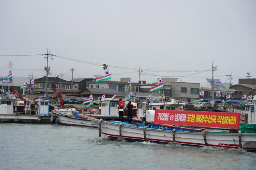
<path fill-rule="evenodd" d="M 50 99 L 48 97 L 36 97 L 35 103 L 38 104 L 38 115 L 49 116 Z"/>

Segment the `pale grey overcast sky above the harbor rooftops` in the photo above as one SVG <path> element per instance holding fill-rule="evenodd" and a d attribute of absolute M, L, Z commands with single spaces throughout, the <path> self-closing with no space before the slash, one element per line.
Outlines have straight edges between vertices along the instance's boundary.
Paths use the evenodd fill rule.
<path fill-rule="evenodd" d="M 230 71 L 234 83 L 247 71 L 256 77 L 255 0 L 1 0 L 0 23 L 0 55 L 44 54 L 48 48 L 82 61 L 168 71 L 207 70 L 214 61 L 222 83 Z M 0 57 L 0 75 L 7 75 L 8 61 L 14 77 L 45 74 L 43 56 Z M 71 79 L 72 67 L 74 78 L 103 75 L 102 66 L 58 57 L 49 65 L 51 75 L 64 73 L 64 79 Z M 109 69 L 112 80 L 138 81 L 134 70 Z M 179 81 L 206 86 L 212 76 L 193 73 L 144 71 L 140 79 L 190 75 Z"/>

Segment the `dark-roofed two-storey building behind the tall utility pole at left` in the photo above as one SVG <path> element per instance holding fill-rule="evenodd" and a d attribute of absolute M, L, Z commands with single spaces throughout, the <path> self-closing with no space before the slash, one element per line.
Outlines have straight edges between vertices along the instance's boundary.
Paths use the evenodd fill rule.
<path fill-rule="evenodd" d="M 46 76 L 41 77 L 39 79 L 35 79 L 35 88 L 34 88 L 34 95 L 42 96 L 45 94 L 46 89 Z M 54 92 L 52 91 L 52 84 L 55 84 L 57 89 L 68 90 L 67 93 L 72 93 L 70 90 L 74 90 L 74 84 L 70 81 L 66 81 L 64 79 L 60 79 L 59 77 L 48 77 L 48 96 L 52 96 Z M 64 91 L 62 91 L 63 93 Z M 73 93 L 77 93 L 74 91 Z"/>

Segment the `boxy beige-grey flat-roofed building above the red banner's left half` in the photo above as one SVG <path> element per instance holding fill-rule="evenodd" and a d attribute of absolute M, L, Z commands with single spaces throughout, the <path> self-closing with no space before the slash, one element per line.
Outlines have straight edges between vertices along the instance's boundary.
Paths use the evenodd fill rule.
<path fill-rule="evenodd" d="M 172 85 L 172 99 L 193 102 L 199 98 L 199 83 L 174 82 L 170 84 Z"/>

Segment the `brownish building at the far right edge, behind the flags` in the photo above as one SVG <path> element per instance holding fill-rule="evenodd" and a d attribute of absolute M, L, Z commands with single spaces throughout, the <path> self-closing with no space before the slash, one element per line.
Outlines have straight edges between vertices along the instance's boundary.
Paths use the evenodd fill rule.
<path fill-rule="evenodd" d="M 241 99 L 243 95 L 256 95 L 256 84 L 236 84 L 230 86 L 230 89 L 234 90 L 234 99 Z"/>

